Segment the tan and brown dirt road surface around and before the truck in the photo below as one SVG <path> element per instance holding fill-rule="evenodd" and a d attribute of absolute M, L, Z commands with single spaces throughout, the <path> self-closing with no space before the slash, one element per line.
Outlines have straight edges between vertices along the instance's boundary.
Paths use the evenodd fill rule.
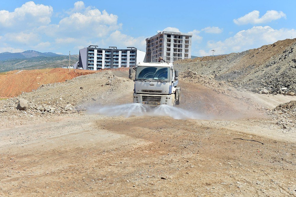
<path fill-rule="evenodd" d="M 128 103 L 132 87 L 98 94 Z M 296 196 L 295 131 L 206 87 L 180 87 L 179 107 L 211 117 L 82 113 L 4 124 L 0 196 Z M 258 102 L 293 98 L 276 96 Z"/>

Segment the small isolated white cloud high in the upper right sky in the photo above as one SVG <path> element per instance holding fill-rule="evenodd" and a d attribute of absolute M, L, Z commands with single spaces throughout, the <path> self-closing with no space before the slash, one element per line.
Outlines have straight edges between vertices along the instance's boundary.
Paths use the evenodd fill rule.
<path fill-rule="evenodd" d="M 238 19 L 234 19 L 233 22 L 237 25 L 245 25 L 248 23 L 259 24 L 259 23 L 268 23 L 273 20 L 280 19 L 282 17 L 286 18 L 286 14 L 284 12 L 282 11 L 278 12 L 276 10 L 268 10 L 262 17 L 259 18 L 259 11 L 254 10 L 242 17 L 239 17 Z"/>

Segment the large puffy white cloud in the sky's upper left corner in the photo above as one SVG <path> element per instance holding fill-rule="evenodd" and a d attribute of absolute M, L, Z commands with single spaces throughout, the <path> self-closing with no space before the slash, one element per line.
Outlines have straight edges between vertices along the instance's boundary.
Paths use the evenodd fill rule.
<path fill-rule="evenodd" d="M 28 1 L 14 12 L 0 10 L 0 27 L 3 29 L 29 29 L 50 23 L 53 9 L 51 6 Z"/>

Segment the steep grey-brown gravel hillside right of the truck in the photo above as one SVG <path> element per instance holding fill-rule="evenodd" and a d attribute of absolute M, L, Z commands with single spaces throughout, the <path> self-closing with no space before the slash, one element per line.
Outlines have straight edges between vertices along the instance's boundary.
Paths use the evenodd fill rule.
<path fill-rule="evenodd" d="M 180 72 L 213 75 L 237 89 L 274 94 L 296 92 L 296 39 L 279 40 L 241 53 L 178 60 Z M 284 89 L 282 89 L 284 88 Z M 287 88 L 287 89 L 285 89 Z"/>

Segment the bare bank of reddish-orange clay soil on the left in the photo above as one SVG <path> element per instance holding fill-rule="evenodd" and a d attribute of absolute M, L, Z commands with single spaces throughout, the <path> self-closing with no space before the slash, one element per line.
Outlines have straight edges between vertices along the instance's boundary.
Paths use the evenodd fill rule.
<path fill-rule="evenodd" d="M 102 71 L 71 69 L 69 73 L 68 69 L 50 68 L 0 73 L 0 97 L 15 97 L 22 94 L 22 92 L 31 92 L 42 84 L 64 82 L 77 76 Z"/>

